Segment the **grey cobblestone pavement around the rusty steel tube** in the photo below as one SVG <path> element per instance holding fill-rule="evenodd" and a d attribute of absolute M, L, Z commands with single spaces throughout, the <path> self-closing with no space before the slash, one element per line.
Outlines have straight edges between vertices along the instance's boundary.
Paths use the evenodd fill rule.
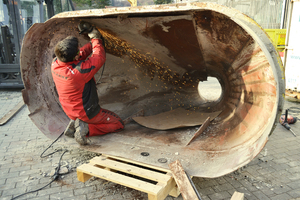
<path fill-rule="evenodd" d="M 0 117 L 16 105 L 20 91 L 0 90 Z M 286 108 L 299 107 L 286 102 Z M 0 126 L 0 199 L 11 199 L 24 192 L 36 190 L 51 181 L 51 171 L 59 161 L 60 153 L 40 158 L 51 144 L 31 122 L 27 107 L 7 124 Z M 300 117 L 300 116 L 299 116 Z M 299 135 L 294 137 L 278 125 L 261 153 L 247 166 L 220 178 L 193 178 L 203 200 L 230 199 L 234 191 L 243 192 L 245 199 L 300 199 L 300 123 L 291 125 Z M 55 143 L 54 149 L 66 148 Z M 68 147 L 62 164 L 71 172 L 63 175 L 43 190 L 18 199 L 103 199 L 142 200 L 145 193 L 101 179 L 92 178 L 86 183 L 77 180 L 76 166 L 86 163 L 95 153 Z M 167 200 L 182 200 L 167 197 Z"/>

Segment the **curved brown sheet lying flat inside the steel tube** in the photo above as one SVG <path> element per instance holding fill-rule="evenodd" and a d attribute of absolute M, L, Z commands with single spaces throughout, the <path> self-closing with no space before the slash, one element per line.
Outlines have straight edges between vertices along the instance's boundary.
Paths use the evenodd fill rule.
<path fill-rule="evenodd" d="M 148 128 L 157 130 L 168 130 L 173 128 L 197 126 L 210 117 L 212 121 L 221 111 L 204 113 L 177 108 L 168 112 L 153 116 L 134 117 L 133 120 Z"/>

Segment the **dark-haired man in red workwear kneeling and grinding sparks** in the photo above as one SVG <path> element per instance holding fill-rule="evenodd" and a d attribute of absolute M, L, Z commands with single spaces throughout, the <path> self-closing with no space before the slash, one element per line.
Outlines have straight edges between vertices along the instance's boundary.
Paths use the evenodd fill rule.
<path fill-rule="evenodd" d="M 124 122 L 115 113 L 99 105 L 94 75 L 105 63 L 106 55 L 100 32 L 93 27 L 91 39 L 79 48 L 78 39 L 69 36 L 55 47 L 51 71 L 59 101 L 71 119 L 65 135 L 87 144 L 87 136 L 120 131 Z M 92 55 L 87 58 L 90 54 Z"/>

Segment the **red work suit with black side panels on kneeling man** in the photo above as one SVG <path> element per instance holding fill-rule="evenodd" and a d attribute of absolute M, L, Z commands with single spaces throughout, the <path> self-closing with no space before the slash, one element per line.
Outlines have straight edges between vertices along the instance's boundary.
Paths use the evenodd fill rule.
<path fill-rule="evenodd" d="M 92 56 L 86 59 L 91 53 Z M 80 48 L 79 60 L 61 62 L 54 59 L 51 71 L 59 101 L 70 119 L 89 124 L 89 136 L 117 132 L 124 128 L 122 119 L 99 105 L 94 75 L 105 63 L 105 51 L 100 39 Z"/>

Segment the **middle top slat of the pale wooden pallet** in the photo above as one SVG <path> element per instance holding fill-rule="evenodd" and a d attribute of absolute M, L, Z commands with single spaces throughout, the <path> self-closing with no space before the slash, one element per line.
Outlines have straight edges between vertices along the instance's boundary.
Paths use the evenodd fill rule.
<path fill-rule="evenodd" d="M 167 183 L 172 178 L 172 176 L 166 174 L 162 174 L 148 169 L 136 167 L 133 165 L 128 165 L 126 163 L 110 160 L 104 156 L 94 157 L 92 160 L 90 160 L 90 163 L 107 167 L 110 169 L 114 169 L 117 171 L 125 172 L 128 174 L 136 175 L 157 182 Z"/>

